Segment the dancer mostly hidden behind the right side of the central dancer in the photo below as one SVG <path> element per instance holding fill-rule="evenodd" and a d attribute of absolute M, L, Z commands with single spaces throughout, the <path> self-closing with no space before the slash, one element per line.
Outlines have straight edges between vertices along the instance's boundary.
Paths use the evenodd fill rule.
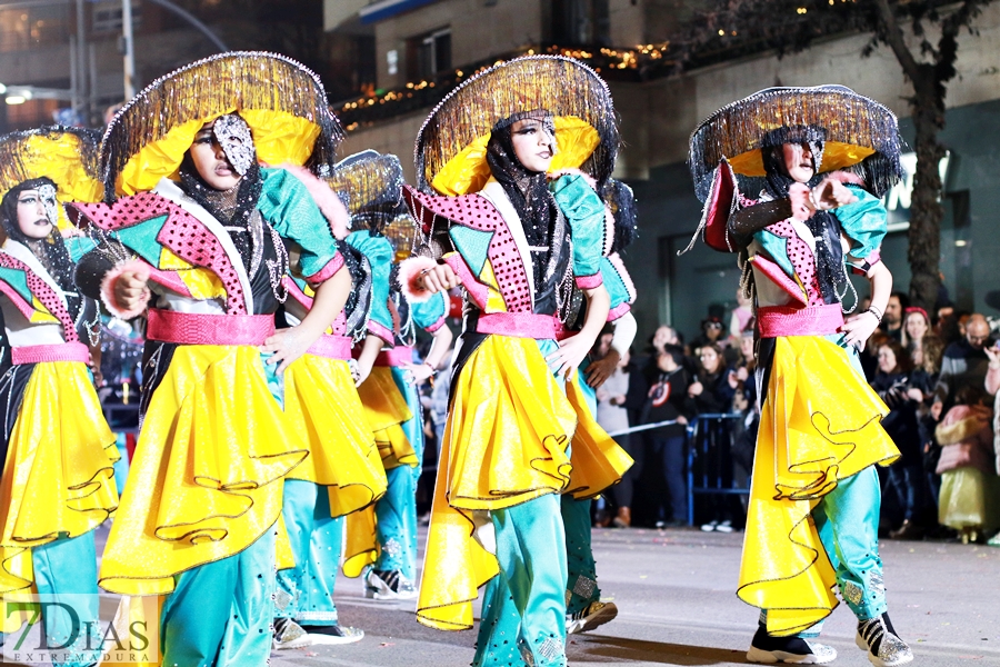
<path fill-rule="evenodd" d="M 631 305 L 636 301 L 636 287 L 629 276 L 620 252 L 636 238 L 637 211 L 632 189 L 619 180 L 611 179 L 604 188 L 604 201 L 608 206 L 609 223 L 613 225 L 613 233 L 606 235 L 610 239 L 610 248 L 604 249 L 601 258 L 601 277 L 611 300 L 608 322 L 613 327 L 611 348 L 598 360 L 584 359 L 577 371 L 576 379 L 567 387 L 570 402 L 577 412 L 578 420 L 597 418 L 597 389 L 608 379 L 618 366 L 621 357 L 629 351 L 636 338 L 637 323 L 631 313 Z M 574 299 L 574 303 L 583 303 Z M 582 325 L 583 308 L 570 313 L 559 335 L 560 338 L 572 335 Z M 613 460 L 618 475 L 623 474 L 632 459 L 613 440 L 608 440 L 604 458 Z M 573 442 L 572 462 L 579 466 L 579 457 L 587 451 L 576 447 Z M 600 492 L 597 489 L 596 492 Z M 566 526 L 567 566 L 569 578 L 566 584 L 566 631 L 568 635 L 587 633 L 604 625 L 618 616 L 614 603 L 601 601 L 601 589 L 598 586 L 597 564 L 591 546 L 590 506 L 592 496 L 577 497 L 573 492 L 562 495 L 562 522 Z"/>

